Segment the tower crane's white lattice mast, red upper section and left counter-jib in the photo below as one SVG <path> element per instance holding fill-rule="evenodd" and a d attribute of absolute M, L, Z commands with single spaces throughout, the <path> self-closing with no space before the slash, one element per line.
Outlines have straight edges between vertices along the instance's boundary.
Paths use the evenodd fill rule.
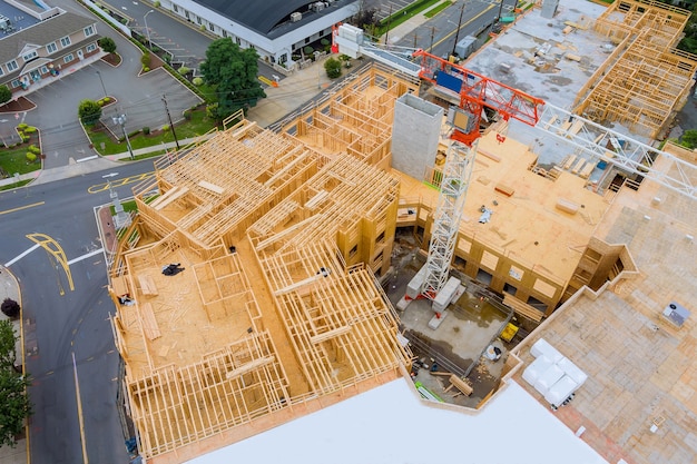
<path fill-rule="evenodd" d="M 505 121 L 513 118 L 536 126 L 544 101 L 425 50 L 420 49 L 405 56 L 402 48 L 397 50 L 395 47 L 377 47 L 364 37 L 362 29 L 350 24 L 335 27 L 332 39 L 332 50 L 336 52 L 352 58 L 369 56 L 410 76 L 432 82 L 435 89 L 450 93 L 459 101 L 458 124 L 451 134 L 454 142 L 445 157 L 429 257 L 410 283 L 406 295 L 408 298 L 423 296 L 433 300 L 433 310 L 440 318 L 440 310 L 444 309 L 448 302 L 439 302 L 443 296 L 438 296 L 446 286 L 484 108 L 498 112 Z M 500 134 L 498 139 L 503 142 L 505 136 Z M 443 295 L 446 294 L 448 292 L 443 292 Z"/>

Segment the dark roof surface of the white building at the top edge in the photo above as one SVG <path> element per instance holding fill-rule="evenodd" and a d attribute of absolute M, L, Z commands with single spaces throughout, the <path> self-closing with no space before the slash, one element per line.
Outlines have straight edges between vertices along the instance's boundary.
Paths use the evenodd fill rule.
<path fill-rule="evenodd" d="M 353 0 L 337 0 L 337 7 L 352 3 Z M 293 12 L 305 13 L 315 1 L 308 0 L 198 0 L 196 3 L 227 18 L 239 21 L 248 28 L 268 34 L 274 27 Z M 325 9 L 326 10 L 326 9 Z"/>

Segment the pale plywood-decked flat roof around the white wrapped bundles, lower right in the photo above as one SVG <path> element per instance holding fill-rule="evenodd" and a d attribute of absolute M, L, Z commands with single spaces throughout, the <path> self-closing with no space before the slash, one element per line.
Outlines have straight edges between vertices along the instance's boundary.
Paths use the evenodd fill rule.
<path fill-rule="evenodd" d="M 638 273 L 608 282 L 598 295 L 581 290 L 518 348 L 527 367 L 529 347 L 544 338 L 588 374 L 556 415 L 572 431 L 586 427 L 581 440 L 608 462 L 697 458 L 695 230 L 694 200 L 655 184 L 621 190 L 596 234 L 627 244 Z M 671 303 L 691 312 L 681 327 L 662 315 Z M 544 404 L 522 371 L 514 378 Z"/>

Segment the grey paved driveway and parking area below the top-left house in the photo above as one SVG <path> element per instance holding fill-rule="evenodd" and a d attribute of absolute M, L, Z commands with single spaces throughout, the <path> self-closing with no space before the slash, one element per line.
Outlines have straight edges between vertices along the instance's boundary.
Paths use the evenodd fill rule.
<path fill-rule="evenodd" d="M 111 121 L 117 115 L 126 115 L 128 132 L 168 124 L 161 100 L 164 95 L 173 120 L 180 119 L 185 109 L 200 102 L 196 95 L 161 69 L 138 77 L 140 50 L 106 23 L 100 22 L 97 28 L 99 34 L 116 41 L 117 52 L 122 57 L 118 67 L 99 60 L 72 72 L 67 70 L 62 79 L 28 96 L 37 108 L 27 112 L 24 122 L 41 130 L 45 168 L 66 166 L 96 154 L 89 148 L 89 140 L 78 121 L 78 105 L 84 99 L 102 98 L 105 89 L 117 102 L 104 109 L 102 121 L 116 129 L 116 134 L 121 132 L 120 127 Z M 101 75 L 104 88 L 97 71 Z M 70 75 L 66 76 L 68 72 Z"/>

